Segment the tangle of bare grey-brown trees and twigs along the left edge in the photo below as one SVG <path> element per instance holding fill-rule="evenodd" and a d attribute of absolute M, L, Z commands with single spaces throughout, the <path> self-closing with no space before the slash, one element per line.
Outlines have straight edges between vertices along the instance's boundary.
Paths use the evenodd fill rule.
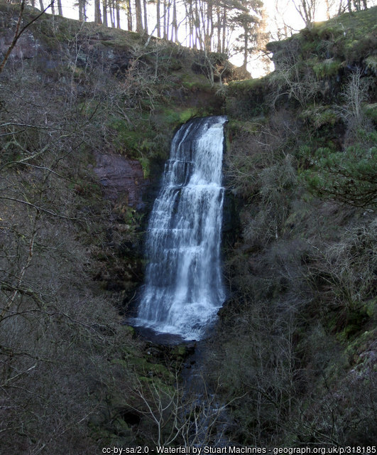
<path fill-rule="evenodd" d="M 89 453 L 97 441 L 87 424 L 114 412 L 106 396 L 124 380 L 111 360 L 125 346 L 140 350 L 119 325 L 114 296 L 92 281 L 93 244 L 85 245 L 103 240 L 109 216 L 84 146 L 100 132 L 71 109 L 70 81 L 58 96 L 32 70 L 6 72 L 1 85 L 1 447 Z"/>

